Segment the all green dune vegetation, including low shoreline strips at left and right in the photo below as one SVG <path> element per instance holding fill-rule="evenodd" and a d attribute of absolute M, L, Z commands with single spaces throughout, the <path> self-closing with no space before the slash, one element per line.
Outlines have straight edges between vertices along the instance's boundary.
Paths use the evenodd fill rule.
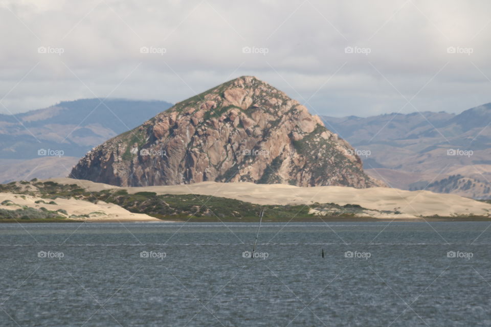
<path fill-rule="evenodd" d="M 97 203 L 104 201 L 117 204 L 129 212 L 142 213 L 162 220 L 213 222 L 241 221 L 257 222 L 258 215 L 264 209 L 264 222 L 280 221 L 339 221 L 342 220 L 377 220 L 367 217 L 368 209 L 356 204 L 338 205 L 336 203 L 313 203 L 309 205 L 259 205 L 235 199 L 196 195 L 196 194 L 157 194 L 155 192 L 128 193 L 126 189 L 110 189 L 100 192 L 89 192 L 77 184 L 58 184 L 52 181 L 11 182 L 0 184 L 0 192 L 27 195 L 43 198 L 36 203 L 56 204 L 57 198 L 79 199 Z M 491 203 L 491 200 L 483 201 Z M 44 207 L 30 208 L 10 200 L 1 203 L 12 210 L 0 209 L 0 222 L 48 222 L 73 221 L 66 219 L 68 214 L 63 210 L 49 211 Z M 373 212 L 373 211 L 372 211 Z M 379 211 L 380 214 L 400 214 L 398 211 Z M 90 215 L 97 214 L 91 213 Z M 317 216 L 317 215 L 320 216 Z M 90 215 L 70 216 L 83 220 Z M 421 218 L 423 219 L 423 218 Z M 489 217 L 426 217 L 431 221 L 489 221 Z"/>

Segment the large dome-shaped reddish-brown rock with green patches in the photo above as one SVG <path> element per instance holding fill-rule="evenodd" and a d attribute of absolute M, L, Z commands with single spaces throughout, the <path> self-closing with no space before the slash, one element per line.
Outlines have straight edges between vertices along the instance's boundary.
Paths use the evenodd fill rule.
<path fill-rule="evenodd" d="M 202 181 L 385 186 L 318 116 L 255 77 L 177 103 L 109 139 L 70 174 L 120 186 Z"/>

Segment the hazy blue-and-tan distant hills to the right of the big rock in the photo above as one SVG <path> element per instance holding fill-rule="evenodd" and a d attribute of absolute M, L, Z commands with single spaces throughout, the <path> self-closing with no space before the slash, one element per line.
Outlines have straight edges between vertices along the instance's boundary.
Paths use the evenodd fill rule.
<path fill-rule="evenodd" d="M 415 112 L 323 120 L 362 154 L 367 174 L 391 186 L 491 198 L 491 104 L 457 115 Z M 452 177 L 449 183 L 457 175 L 459 181 Z"/>

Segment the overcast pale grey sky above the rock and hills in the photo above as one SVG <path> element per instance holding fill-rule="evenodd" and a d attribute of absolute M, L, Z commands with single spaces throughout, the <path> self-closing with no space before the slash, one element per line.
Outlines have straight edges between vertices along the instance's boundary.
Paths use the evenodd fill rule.
<path fill-rule="evenodd" d="M 491 102 L 490 12 L 449 0 L 0 0 L 0 111 L 174 103 L 254 75 L 312 113 L 461 112 Z"/>

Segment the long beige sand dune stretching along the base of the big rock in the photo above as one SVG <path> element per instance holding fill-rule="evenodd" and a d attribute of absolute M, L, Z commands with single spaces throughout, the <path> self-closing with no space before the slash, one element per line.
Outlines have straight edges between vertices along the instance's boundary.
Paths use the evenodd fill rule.
<path fill-rule="evenodd" d="M 79 184 L 88 191 L 117 188 L 117 186 L 70 178 L 53 178 L 50 180 L 63 184 Z M 489 216 L 491 214 L 491 204 L 458 195 L 437 194 L 429 191 L 411 192 L 390 188 L 353 189 L 343 186 L 300 188 L 284 184 L 202 182 L 189 185 L 145 186 L 124 189 L 128 190 L 128 193 L 146 191 L 157 194 L 212 195 L 257 204 L 311 204 L 315 202 L 332 202 L 340 205 L 358 204 L 371 210 L 399 211 L 401 215 L 396 215 L 396 218 L 435 215 L 441 217 Z M 369 214 L 369 216 L 373 216 L 373 214 Z M 392 215 L 389 216 L 392 217 Z"/>

